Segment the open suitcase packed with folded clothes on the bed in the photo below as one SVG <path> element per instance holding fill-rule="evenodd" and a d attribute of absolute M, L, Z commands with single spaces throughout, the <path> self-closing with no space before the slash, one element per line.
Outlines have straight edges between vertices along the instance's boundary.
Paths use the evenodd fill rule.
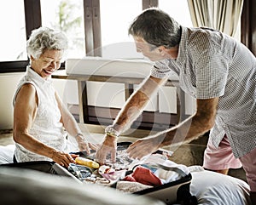
<path fill-rule="evenodd" d="M 98 169 L 71 164 L 68 170 L 84 183 L 108 185 L 119 191 L 151 196 L 166 204 L 197 204 L 190 195 L 192 179 L 189 169 L 168 160 L 165 151 L 156 151 L 143 160 L 128 157 L 126 149 L 130 142 L 118 143 L 115 163 L 108 163 Z M 94 154 L 80 157 L 94 160 Z"/>

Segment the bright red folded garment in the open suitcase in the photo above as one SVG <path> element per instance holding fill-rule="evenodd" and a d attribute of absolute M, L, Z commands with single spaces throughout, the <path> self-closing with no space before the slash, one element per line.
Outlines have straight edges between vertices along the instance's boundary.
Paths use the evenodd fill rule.
<path fill-rule="evenodd" d="M 134 172 L 127 175 L 123 180 L 142 183 L 143 185 L 162 185 L 161 180 L 150 169 L 137 167 Z"/>

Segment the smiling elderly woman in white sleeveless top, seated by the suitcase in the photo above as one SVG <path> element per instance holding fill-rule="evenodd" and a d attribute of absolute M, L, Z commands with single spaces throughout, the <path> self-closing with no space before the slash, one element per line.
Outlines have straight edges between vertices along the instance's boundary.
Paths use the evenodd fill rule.
<path fill-rule="evenodd" d="M 74 162 L 67 151 L 67 134 L 80 151 L 90 153 L 96 145 L 84 138 L 51 83 L 51 74 L 61 66 L 67 37 L 60 31 L 40 27 L 26 44 L 30 65 L 14 97 L 14 162 L 54 161 L 67 167 Z"/>

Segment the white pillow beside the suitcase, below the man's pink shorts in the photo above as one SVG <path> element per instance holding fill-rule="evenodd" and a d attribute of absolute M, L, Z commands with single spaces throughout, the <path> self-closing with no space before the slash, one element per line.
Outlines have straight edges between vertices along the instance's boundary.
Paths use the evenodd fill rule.
<path fill-rule="evenodd" d="M 191 174 L 190 192 L 198 204 L 250 204 L 250 188 L 245 181 L 207 170 Z"/>

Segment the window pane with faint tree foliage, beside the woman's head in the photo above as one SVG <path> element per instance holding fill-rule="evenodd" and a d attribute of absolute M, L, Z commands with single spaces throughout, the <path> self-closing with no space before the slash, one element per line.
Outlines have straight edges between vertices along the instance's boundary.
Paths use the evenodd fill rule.
<path fill-rule="evenodd" d="M 85 56 L 83 0 L 44 0 L 41 1 L 41 14 L 42 26 L 66 33 L 69 40 L 67 58 L 83 58 Z"/>

